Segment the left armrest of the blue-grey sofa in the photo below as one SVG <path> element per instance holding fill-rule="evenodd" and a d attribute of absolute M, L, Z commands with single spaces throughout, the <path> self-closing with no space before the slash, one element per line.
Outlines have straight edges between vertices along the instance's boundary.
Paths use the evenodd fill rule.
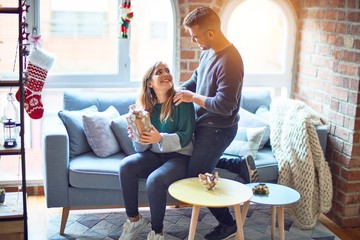
<path fill-rule="evenodd" d="M 57 112 L 44 114 L 42 140 L 47 207 L 68 206 L 69 136 Z"/>

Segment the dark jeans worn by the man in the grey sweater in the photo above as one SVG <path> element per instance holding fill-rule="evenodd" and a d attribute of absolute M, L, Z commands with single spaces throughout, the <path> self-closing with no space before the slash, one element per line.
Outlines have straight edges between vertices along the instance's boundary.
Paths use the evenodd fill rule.
<path fill-rule="evenodd" d="M 197 177 L 199 173 L 212 173 L 221 155 L 234 140 L 237 129 L 237 124 L 228 128 L 196 127 L 194 150 L 189 161 L 188 177 Z M 234 223 L 228 208 L 209 208 L 209 210 L 220 223 L 226 225 Z"/>

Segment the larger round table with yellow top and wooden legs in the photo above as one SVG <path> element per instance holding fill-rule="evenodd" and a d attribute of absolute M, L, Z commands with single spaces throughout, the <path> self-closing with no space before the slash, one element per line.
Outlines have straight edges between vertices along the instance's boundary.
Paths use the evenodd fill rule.
<path fill-rule="evenodd" d="M 236 239 L 244 239 L 243 218 L 249 208 L 252 191 L 242 183 L 220 178 L 214 190 L 206 190 L 199 179 L 186 178 L 174 182 L 169 187 L 169 193 L 174 198 L 187 204 L 193 205 L 189 240 L 195 237 L 200 207 L 230 207 L 234 206 L 237 233 Z M 243 213 L 240 204 L 244 203 Z"/>

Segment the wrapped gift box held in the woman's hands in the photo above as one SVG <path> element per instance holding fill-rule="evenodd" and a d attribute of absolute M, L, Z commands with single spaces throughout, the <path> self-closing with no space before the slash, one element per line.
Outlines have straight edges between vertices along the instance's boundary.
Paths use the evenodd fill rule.
<path fill-rule="evenodd" d="M 149 112 L 136 108 L 135 104 L 129 106 L 129 113 L 126 116 L 126 120 L 136 142 L 139 142 L 140 134 L 143 131 L 150 131 L 151 129 Z"/>

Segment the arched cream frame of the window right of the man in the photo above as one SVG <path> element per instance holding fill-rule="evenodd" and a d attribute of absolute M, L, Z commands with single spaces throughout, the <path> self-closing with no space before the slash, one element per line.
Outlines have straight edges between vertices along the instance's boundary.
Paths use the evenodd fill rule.
<path fill-rule="evenodd" d="M 234 9 L 245 0 L 234 0 L 229 1 L 221 12 L 222 29 L 226 35 L 228 31 L 228 22 L 230 15 Z M 283 11 L 288 24 L 288 33 L 286 37 L 285 48 L 285 59 L 284 59 L 284 71 L 282 73 L 246 73 L 244 76 L 244 87 L 275 87 L 275 88 L 286 88 L 287 95 L 290 96 L 293 93 L 293 82 L 294 82 L 294 57 L 296 49 L 296 12 L 294 8 L 282 0 L 274 0 L 280 9 Z M 265 79 L 271 79 L 266 81 Z"/>

